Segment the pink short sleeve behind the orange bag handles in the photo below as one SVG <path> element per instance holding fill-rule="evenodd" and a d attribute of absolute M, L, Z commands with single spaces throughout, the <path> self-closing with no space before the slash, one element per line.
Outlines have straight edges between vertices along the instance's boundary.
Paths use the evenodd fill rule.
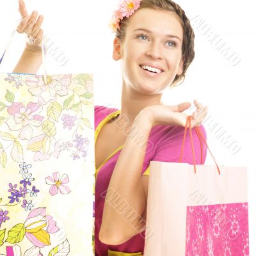
<path fill-rule="evenodd" d="M 198 127 L 205 138 L 207 140 L 205 128 L 203 125 Z M 164 138 L 163 141 L 157 145 L 154 156 L 151 161 L 159 161 L 159 162 L 170 162 L 170 163 L 179 163 L 180 153 L 182 148 L 182 140 L 184 136 L 184 127 L 174 127 L 170 130 L 168 136 Z M 192 138 L 193 138 L 193 147 L 195 153 L 195 163 L 196 164 L 204 164 L 207 156 L 207 147 L 204 141 L 198 138 L 196 134 L 195 128 L 192 129 Z M 201 157 L 202 154 L 202 157 Z M 184 150 L 182 154 L 181 163 L 193 164 L 193 154 L 191 147 L 191 140 L 189 135 L 189 129 L 186 132 L 186 139 L 184 143 Z M 143 172 L 143 175 L 150 175 L 150 166 Z"/>

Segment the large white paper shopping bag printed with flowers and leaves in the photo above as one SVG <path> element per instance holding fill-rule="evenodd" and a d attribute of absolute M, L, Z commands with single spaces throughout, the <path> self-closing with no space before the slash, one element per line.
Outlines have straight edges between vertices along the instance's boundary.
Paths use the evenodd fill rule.
<path fill-rule="evenodd" d="M 0 86 L 0 255 L 92 255 L 92 75 Z"/>

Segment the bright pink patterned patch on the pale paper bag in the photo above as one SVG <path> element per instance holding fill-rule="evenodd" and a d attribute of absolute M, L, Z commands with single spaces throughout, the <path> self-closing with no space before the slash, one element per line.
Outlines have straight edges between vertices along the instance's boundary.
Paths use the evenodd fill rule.
<path fill-rule="evenodd" d="M 188 206 L 186 256 L 248 256 L 248 203 Z"/>

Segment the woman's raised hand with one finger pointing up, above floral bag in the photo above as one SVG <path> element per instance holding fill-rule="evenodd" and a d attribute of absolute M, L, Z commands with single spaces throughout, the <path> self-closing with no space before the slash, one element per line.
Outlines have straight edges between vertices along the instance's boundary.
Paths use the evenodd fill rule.
<path fill-rule="evenodd" d="M 26 49 L 35 52 L 41 52 L 42 38 L 44 31 L 41 28 L 44 16 L 39 15 L 38 12 L 33 11 L 31 15 L 26 10 L 24 0 L 19 0 L 19 12 L 22 20 L 17 26 L 18 33 L 25 33 L 27 35 Z M 38 16 L 38 17 L 37 17 Z"/>

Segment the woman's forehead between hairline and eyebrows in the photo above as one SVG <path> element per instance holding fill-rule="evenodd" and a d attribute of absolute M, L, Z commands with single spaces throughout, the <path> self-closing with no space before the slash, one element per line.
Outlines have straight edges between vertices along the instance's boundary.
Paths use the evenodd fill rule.
<path fill-rule="evenodd" d="M 127 24 L 127 32 L 132 33 L 135 29 L 145 28 L 155 35 L 175 35 L 183 40 L 183 29 L 179 16 L 172 11 L 142 8 L 137 10 Z"/>

